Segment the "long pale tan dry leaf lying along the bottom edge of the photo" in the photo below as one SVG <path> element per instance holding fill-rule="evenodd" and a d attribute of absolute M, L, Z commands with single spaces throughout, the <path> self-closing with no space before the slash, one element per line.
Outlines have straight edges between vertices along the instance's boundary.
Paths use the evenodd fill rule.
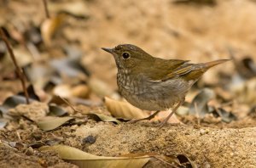
<path fill-rule="evenodd" d="M 148 155 L 140 157 L 105 157 L 97 156 L 94 154 L 88 154 L 65 145 L 44 146 L 39 148 L 40 151 L 55 151 L 59 154 L 61 159 L 67 160 L 79 167 L 143 167 L 150 157 Z"/>

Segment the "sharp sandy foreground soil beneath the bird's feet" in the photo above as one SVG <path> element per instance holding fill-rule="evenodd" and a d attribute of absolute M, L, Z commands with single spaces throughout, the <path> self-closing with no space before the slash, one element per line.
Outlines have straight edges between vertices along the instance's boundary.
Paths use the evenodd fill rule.
<path fill-rule="evenodd" d="M 33 103 L 20 105 L 11 111 L 13 114 L 19 111 L 32 118 L 35 114 L 31 109 L 38 109 L 38 114 L 45 115 L 45 106 L 43 103 Z M 83 106 L 79 108 L 83 109 Z M 253 126 L 255 124 L 254 120 Z M 87 120 L 82 125 L 61 126 L 54 131 L 44 132 L 32 121 L 20 119 L 18 122 L 9 123 L 6 130 L 1 132 L 0 138 L 3 142 L 29 145 L 38 142 L 65 144 L 103 156 L 130 153 L 157 153 L 167 156 L 185 154 L 202 167 L 253 167 L 256 165 L 256 128 L 238 126 L 240 128 L 237 128 L 236 121 L 226 126 L 214 126 L 215 128 L 191 121 L 188 125 L 171 124 L 159 128 L 154 122 L 115 125 L 112 122 Z M 93 140 L 88 140 L 89 137 Z M 40 153 L 33 148 L 30 148 L 30 152 L 27 152 L 28 148 L 17 150 L 3 144 L 1 148 L 1 167 L 75 166 L 63 162 L 56 154 Z"/>

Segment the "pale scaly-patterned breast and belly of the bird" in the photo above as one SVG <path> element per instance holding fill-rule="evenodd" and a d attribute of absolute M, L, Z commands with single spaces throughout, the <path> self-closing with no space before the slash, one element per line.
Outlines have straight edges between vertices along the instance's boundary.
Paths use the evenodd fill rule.
<path fill-rule="evenodd" d="M 146 76 L 132 76 L 128 70 L 119 71 L 117 83 L 121 95 L 139 109 L 163 110 L 184 98 L 187 86 L 183 81 L 151 81 Z M 182 92 L 177 92 L 182 89 Z"/>

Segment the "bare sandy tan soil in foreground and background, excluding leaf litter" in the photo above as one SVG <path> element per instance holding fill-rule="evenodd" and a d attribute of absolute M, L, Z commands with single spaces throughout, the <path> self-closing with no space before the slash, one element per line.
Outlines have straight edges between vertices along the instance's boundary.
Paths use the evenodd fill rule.
<path fill-rule="evenodd" d="M 41 25 L 45 20 L 42 2 L 7 0 L 0 3 L 4 6 L 0 9 L 0 15 L 4 15 L 0 25 L 9 25 L 9 22 L 21 27 Z M 74 1 L 56 2 L 61 4 Z M 61 57 L 65 45 L 79 48 L 83 53 L 81 62 L 84 67 L 90 71 L 91 76 L 106 82 L 111 91 L 117 89 L 116 67 L 111 56 L 103 53 L 100 48 L 111 48 L 119 43 L 136 44 L 152 55 L 165 59 L 192 59 L 193 62 L 227 59 L 230 58 L 227 49 L 230 47 L 236 49 L 238 59 L 249 55 L 256 60 L 254 1 L 219 0 L 216 5 L 176 4 L 170 0 L 81 2 L 87 7 L 84 13 L 88 19 L 68 16 L 59 32 L 55 33 L 51 46 L 40 51 L 46 55 L 43 62 L 50 61 L 51 57 Z M 54 10 L 50 11 L 51 15 L 55 13 Z M 0 69 L 4 70 L 3 76 L 8 74 L 9 78 L 14 78 L 15 75 L 9 75 L 7 64 L 0 65 Z M 8 68 L 3 68 L 5 66 Z M 11 72 L 14 74 L 13 70 Z M 201 83 L 203 86 L 229 87 L 220 81 L 218 74 L 235 76 L 236 66 L 226 64 L 224 68 L 216 67 L 207 72 L 197 87 Z M 21 90 L 18 80 L 1 81 L 1 102 Z M 92 101 L 102 98 L 90 94 Z M 185 154 L 199 167 L 253 168 L 256 166 L 256 116 L 248 113 L 253 109 L 255 99 L 253 103 L 247 104 L 239 102 L 234 95 L 229 90 L 227 97 L 224 93 L 221 96 L 235 99 L 236 106 L 233 109 L 238 116 L 237 120 L 225 123 L 212 115 L 201 120 L 192 115 L 183 115 L 177 116 L 182 124 L 167 124 L 161 128 L 156 127 L 154 121 L 136 124 L 122 122 L 119 125 L 95 121 L 64 105 L 69 115 L 83 118 L 83 122 L 74 122 L 45 132 L 34 121 L 47 115 L 48 104 L 21 104 L 9 110 L 13 118 L 0 130 L 0 167 L 78 167 L 61 160 L 55 153 L 39 152 L 35 144 L 43 142 L 49 145 L 65 144 L 102 156 L 130 153 L 167 156 Z M 246 110 L 243 110 L 244 106 Z M 82 111 L 101 111 L 109 115 L 104 105 L 75 107 Z M 7 145 L 10 142 L 15 144 Z"/>

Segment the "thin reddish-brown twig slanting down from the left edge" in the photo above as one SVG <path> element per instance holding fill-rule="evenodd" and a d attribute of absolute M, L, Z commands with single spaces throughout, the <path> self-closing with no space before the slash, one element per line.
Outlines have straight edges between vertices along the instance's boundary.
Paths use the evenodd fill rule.
<path fill-rule="evenodd" d="M 15 59 L 15 54 L 14 54 L 13 49 L 11 48 L 11 46 L 9 44 L 9 41 L 8 41 L 4 31 L 3 31 L 3 28 L 0 29 L 0 36 L 3 39 L 3 42 L 5 43 L 5 45 L 8 49 L 9 55 L 10 55 L 11 59 L 13 60 L 13 62 L 15 64 L 16 72 L 17 72 L 17 74 L 20 78 L 21 85 L 22 85 L 22 88 L 23 88 L 23 91 L 24 91 L 24 94 L 25 94 L 25 97 L 26 97 L 26 104 L 29 104 L 29 97 L 28 97 L 28 93 L 27 93 L 27 90 L 26 90 L 26 77 L 24 76 L 22 70 L 20 69 L 19 65 L 17 64 L 17 61 Z"/>

